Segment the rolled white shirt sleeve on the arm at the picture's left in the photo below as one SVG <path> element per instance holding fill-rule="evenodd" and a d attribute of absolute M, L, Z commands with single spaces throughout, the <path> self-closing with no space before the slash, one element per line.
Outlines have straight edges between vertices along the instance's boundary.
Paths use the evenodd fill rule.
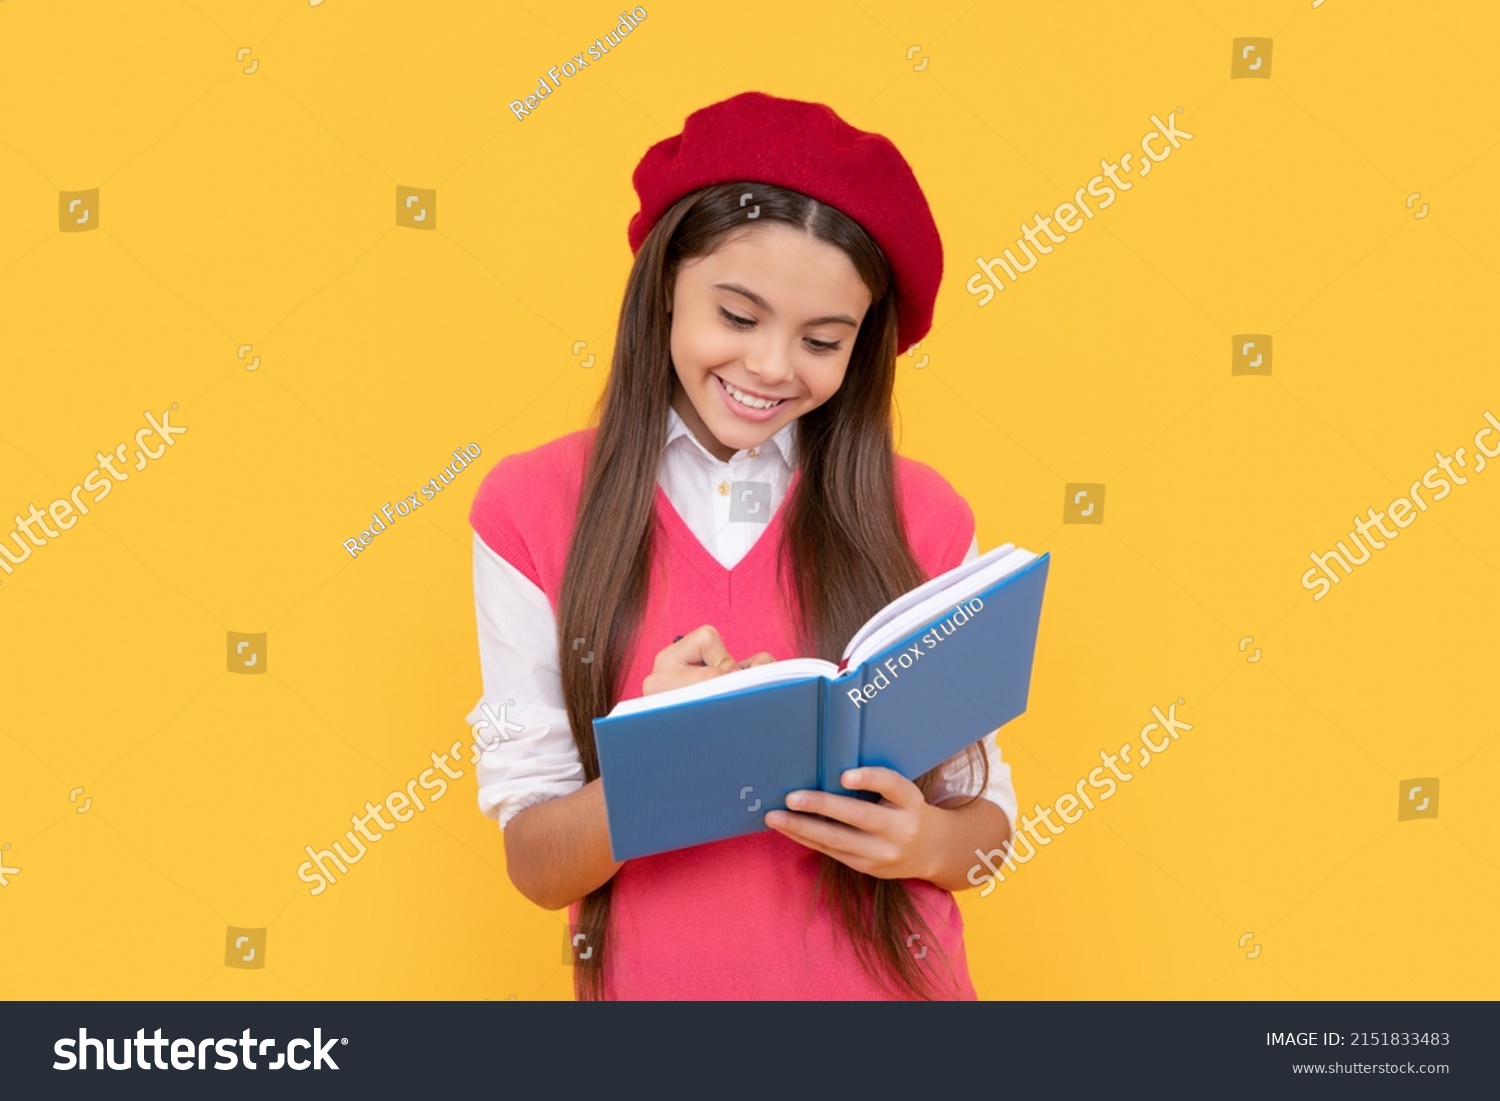
<path fill-rule="evenodd" d="M 470 711 L 480 813 L 504 830 L 526 807 L 584 786 L 584 764 L 562 704 L 546 594 L 474 536 L 474 618 L 484 678 Z"/>

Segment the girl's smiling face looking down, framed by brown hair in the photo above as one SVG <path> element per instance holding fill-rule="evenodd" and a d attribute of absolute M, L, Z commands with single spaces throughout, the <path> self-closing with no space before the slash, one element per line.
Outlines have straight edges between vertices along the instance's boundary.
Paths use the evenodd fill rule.
<path fill-rule="evenodd" d="M 726 237 L 672 280 L 672 408 L 718 459 L 832 398 L 870 291 L 838 248 L 784 222 Z"/>

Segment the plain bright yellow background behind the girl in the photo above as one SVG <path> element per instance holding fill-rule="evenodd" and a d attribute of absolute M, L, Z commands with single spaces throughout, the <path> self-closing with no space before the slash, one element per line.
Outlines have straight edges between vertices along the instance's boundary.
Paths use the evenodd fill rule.
<path fill-rule="evenodd" d="M 1194 724 L 960 896 L 981 996 L 1500 993 L 1500 471 L 1323 600 L 1299 584 L 1500 416 L 1500 10 L 646 14 L 518 122 L 616 8 L 0 3 L 0 530 L 144 411 L 189 429 L 0 576 L 0 994 L 570 996 L 566 915 L 512 888 L 466 764 L 324 894 L 296 868 L 468 736 L 472 492 L 585 423 L 630 172 L 748 88 L 891 136 L 930 200 L 946 274 L 898 446 L 984 549 L 1053 554 L 1002 736 L 1023 806 L 1152 705 Z M 1270 76 L 1230 80 L 1251 36 Z M 1174 108 L 1191 141 L 987 306 L 964 292 Z M 98 228 L 58 232 L 93 188 Z M 434 231 L 396 225 L 400 188 L 436 190 Z M 1230 375 L 1239 333 L 1274 336 L 1269 378 Z M 468 442 L 458 492 L 350 558 Z M 1070 482 L 1106 484 L 1102 525 L 1062 524 Z M 228 632 L 268 633 L 267 675 L 226 672 Z M 1412 777 L 1440 778 L 1437 819 L 1398 822 Z M 262 969 L 225 966 L 230 927 L 268 930 Z"/>

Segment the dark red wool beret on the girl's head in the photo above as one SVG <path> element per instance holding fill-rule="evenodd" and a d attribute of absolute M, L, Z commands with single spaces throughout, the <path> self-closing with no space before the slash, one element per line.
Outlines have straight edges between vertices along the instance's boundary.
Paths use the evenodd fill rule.
<path fill-rule="evenodd" d="M 910 165 L 888 138 L 858 130 L 822 104 L 742 92 L 687 117 L 636 165 L 640 210 L 630 250 L 676 200 L 716 183 L 771 183 L 810 195 L 868 232 L 900 288 L 897 346 L 927 334 L 942 282 L 942 240 Z"/>

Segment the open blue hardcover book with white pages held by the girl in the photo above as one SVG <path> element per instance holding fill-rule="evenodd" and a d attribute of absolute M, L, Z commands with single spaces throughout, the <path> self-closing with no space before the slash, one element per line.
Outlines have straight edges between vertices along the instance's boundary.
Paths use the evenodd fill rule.
<path fill-rule="evenodd" d="M 1026 710 L 1050 555 L 1006 543 L 874 615 L 840 664 L 789 658 L 622 700 L 594 720 L 616 861 L 760 830 L 798 789 L 915 778 Z"/>

